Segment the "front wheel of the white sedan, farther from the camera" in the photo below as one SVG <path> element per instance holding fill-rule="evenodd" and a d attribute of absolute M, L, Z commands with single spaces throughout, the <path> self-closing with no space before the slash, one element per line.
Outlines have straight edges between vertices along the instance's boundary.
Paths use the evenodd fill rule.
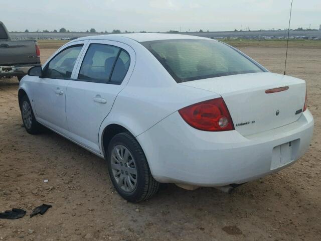
<path fill-rule="evenodd" d="M 27 95 L 21 99 L 21 116 L 24 122 L 26 131 L 29 134 L 37 134 L 40 132 L 40 124 L 36 121 L 34 112 L 32 110 L 29 98 Z"/>

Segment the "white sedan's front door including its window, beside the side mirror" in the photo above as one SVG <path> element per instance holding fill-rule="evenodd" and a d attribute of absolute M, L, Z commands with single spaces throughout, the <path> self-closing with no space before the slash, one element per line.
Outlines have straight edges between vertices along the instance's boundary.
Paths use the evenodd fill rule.
<path fill-rule="evenodd" d="M 87 41 L 86 41 L 87 42 Z M 43 76 L 35 78 L 34 105 L 37 121 L 68 136 L 66 90 L 85 41 L 59 50 L 43 67 Z"/>

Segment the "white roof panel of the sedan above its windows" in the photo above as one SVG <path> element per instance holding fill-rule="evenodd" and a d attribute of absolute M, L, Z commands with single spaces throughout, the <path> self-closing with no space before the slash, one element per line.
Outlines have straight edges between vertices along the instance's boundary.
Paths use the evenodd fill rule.
<path fill-rule="evenodd" d="M 156 40 L 168 40 L 168 39 L 208 39 L 204 37 L 198 37 L 193 35 L 184 35 L 184 34 L 161 34 L 161 33 L 136 33 L 136 34 L 106 34 L 106 35 L 95 35 L 79 38 L 79 40 L 121 40 L 123 38 L 131 39 L 136 42 L 147 42 L 147 41 L 156 41 Z"/>

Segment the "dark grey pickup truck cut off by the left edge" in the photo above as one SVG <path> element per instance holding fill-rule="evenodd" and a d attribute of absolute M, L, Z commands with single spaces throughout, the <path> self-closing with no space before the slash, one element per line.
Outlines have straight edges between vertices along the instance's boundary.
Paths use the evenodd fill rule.
<path fill-rule="evenodd" d="M 0 79 L 17 76 L 20 81 L 28 70 L 40 65 L 36 40 L 11 40 L 6 26 L 0 22 Z"/>

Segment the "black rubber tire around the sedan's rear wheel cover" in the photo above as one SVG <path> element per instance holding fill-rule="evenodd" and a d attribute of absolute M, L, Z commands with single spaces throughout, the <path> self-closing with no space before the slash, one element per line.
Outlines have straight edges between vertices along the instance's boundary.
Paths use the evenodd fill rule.
<path fill-rule="evenodd" d="M 135 168 L 137 171 L 137 183 L 135 189 L 131 192 L 124 191 L 117 183 L 111 168 L 112 151 L 118 145 L 124 146 L 133 156 Z M 159 188 L 159 183 L 152 177 L 146 157 L 136 139 L 130 133 L 120 133 L 115 135 L 108 146 L 106 155 L 110 179 L 120 196 L 129 202 L 140 202 L 150 198 Z"/>

